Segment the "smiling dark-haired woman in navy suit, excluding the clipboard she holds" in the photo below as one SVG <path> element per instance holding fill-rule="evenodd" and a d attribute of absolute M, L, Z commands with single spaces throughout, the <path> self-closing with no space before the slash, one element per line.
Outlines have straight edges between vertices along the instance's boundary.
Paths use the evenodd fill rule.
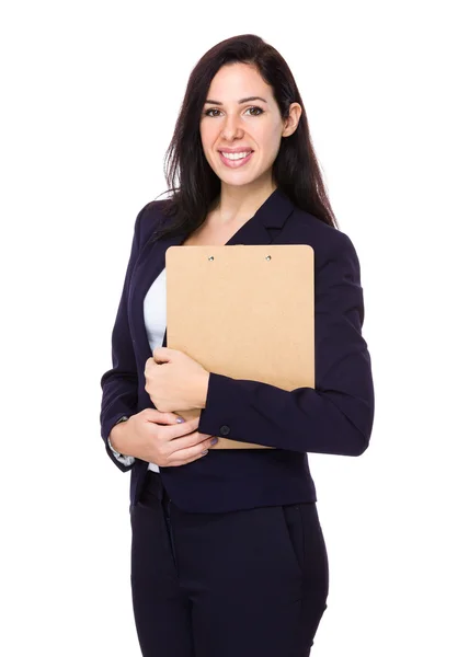
<path fill-rule="evenodd" d="M 136 218 L 101 380 L 106 451 L 131 471 L 141 652 L 307 657 L 329 593 L 307 454 L 359 456 L 373 426 L 357 254 L 336 226 L 291 72 L 259 36 L 226 39 L 197 62 L 169 161 L 170 197 Z M 314 389 L 233 379 L 165 346 L 165 251 L 191 244 L 312 246 Z M 179 422 L 184 410 L 197 415 Z M 217 437 L 276 449 L 220 450 Z"/>

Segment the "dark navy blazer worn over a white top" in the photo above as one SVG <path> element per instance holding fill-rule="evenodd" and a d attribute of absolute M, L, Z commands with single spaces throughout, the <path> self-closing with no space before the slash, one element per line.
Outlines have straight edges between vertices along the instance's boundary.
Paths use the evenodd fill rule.
<path fill-rule="evenodd" d="M 101 436 L 123 472 L 131 469 L 130 505 L 137 504 L 148 463 L 123 465 L 107 436 L 123 415 L 155 408 L 145 390 L 152 356 L 144 322 L 144 298 L 165 266 L 169 246 L 188 233 L 149 243 L 164 217 L 162 200 L 138 214 L 124 288 L 112 332 L 112 369 L 101 378 Z M 362 335 L 364 299 L 355 247 L 342 231 L 300 210 L 279 188 L 227 242 L 310 244 L 314 250 L 316 388 L 286 391 L 267 383 L 210 372 L 198 431 L 277 449 L 209 450 L 186 465 L 160 466 L 164 487 L 182 509 L 224 512 L 256 506 L 316 502 L 307 453 L 356 457 L 368 447 L 374 384 Z M 227 326 L 229 326 L 227 316 Z M 165 335 L 162 343 L 165 344 Z"/>

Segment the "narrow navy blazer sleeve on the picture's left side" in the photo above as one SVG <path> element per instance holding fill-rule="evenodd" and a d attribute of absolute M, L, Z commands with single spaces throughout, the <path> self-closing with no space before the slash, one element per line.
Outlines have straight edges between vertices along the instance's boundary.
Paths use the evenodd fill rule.
<path fill-rule="evenodd" d="M 104 440 L 108 457 L 123 472 L 130 470 L 135 461 L 125 464 L 116 459 L 110 448 L 107 438 L 111 429 L 122 416 L 130 416 L 137 412 L 138 377 L 134 345 L 128 325 L 127 301 L 130 277 L 140 250 L 141 217 L 147 207 L 145 206 L 139 211 L 135 220 L 130 256 L 111 336 L 112 368 L 101 377 L 101 437 Z"/>

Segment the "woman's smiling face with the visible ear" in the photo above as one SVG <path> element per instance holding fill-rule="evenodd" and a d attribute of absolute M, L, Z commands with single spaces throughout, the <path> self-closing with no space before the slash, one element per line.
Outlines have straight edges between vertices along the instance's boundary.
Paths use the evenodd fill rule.
<path fill-rule="evenodd" d="M 207 94 L 201 118 L 205 157 L 226 185 L 271 181 L 283 137 L 291 135 L 301 114 L 298 103 L 283 119 L 272 88 L 247 64 L 221 67 Z"/>

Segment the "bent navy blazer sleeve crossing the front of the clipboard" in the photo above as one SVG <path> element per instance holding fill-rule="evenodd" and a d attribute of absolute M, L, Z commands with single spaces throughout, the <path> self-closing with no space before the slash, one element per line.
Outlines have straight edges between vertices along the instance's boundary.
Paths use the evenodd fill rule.
<path fill-rule="evenodd" d="M 316 388 L 286 391 L 210 372 L 198 431 L 300 452 L 367 449 L 375 400 L 361 268 L 350 238 L 333 237 L 314 276 Z"/>

